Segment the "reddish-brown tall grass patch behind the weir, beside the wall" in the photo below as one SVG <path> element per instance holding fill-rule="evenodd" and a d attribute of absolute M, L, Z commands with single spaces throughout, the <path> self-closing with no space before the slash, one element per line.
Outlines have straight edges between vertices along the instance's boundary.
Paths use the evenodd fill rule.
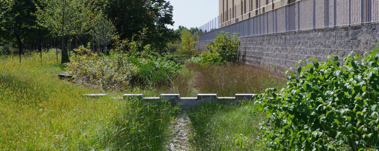
<path fill-rule="evenodd" d="M 269 71 L 244 64 L 200 66 L 187 63 L 193 72 L 190 85 L 200 93 L 234 96 L 239 93 L 261 93 L 266 88 L 283 88 L 285 81 L 269 75 Z"/>

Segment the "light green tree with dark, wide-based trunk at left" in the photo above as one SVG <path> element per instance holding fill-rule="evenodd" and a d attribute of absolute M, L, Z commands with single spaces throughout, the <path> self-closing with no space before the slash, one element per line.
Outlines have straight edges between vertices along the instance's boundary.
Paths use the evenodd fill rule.
<path fill-rule="evenodd" d="M 64 49 L 64 36 L 77 34 L 78 26 L 88 18 L 89 0 L 40 0 L 36 16 L 39 25 L 49 28 L 52 33 L 62 36 L 61 63 L 69 62 L 67 50 Z M 43 9 L 42 9 L 43 7 Z"/>

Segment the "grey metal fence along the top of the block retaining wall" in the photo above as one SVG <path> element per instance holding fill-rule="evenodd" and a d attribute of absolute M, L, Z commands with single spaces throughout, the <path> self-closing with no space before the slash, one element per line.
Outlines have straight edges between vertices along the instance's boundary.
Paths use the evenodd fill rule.
<path fill-rule="evenodd" d="M 200 35 L 213 40 L 220 31 L 240 37 L 379 22 L 379 0 L 300 0 Z"/>

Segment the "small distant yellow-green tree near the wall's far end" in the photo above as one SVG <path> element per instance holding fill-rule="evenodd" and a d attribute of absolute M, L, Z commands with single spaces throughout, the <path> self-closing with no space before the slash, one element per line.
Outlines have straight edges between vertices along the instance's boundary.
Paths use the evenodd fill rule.
<path fill-rule="evenodd" d="M 192 54 L 194 51 L 195 40 L 193 39 L 191 32 L 188 29 L 183 29 L 180 32 L 182 38 L 182 49 L 180 50 L 182 54 Z"/>

